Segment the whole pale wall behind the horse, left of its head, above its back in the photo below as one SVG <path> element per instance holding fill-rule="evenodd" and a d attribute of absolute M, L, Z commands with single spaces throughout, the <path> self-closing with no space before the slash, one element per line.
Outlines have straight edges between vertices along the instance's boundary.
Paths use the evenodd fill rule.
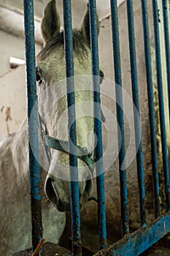
<path fill-rule="evenodd" d="M 11 69 L 9 58 L 25 59 L 24 38 L 0 30 L 0 140 L 16 132 L 26 116 L 25 65 Z M 36 44 L 36 53 L 41 45 Z"/>

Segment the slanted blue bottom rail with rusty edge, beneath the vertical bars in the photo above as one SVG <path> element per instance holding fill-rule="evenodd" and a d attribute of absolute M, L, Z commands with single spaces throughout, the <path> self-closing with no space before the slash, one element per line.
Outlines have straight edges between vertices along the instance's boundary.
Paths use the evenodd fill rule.
<path fill-rule="evenodd" d="M 127 255 L 140 255 L 152 244 L 163 238 L 170 232 L 170 214 L 166 214 L 155 222 L 150 223 L 147 227 L 141 227 L 131 235 L 125 236 L 123 239 L 117 241 L 108 249 L 97 252 L 93 256 L 101 255 L 114 255 L 114 256 L 127 256 Z"/>

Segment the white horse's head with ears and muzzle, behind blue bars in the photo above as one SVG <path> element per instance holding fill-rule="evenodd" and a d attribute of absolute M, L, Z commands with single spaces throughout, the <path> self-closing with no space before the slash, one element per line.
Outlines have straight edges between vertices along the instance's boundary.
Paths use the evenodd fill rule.
<path fill-rule="evenodd" d="M 39 91 L 39 115 L 46 134 L 68 141 L 66 68 L 63 31 L 55 1 L 45 7 L 42 35 L 45 47 L 37 56 L 36 80 Z M 99 29 L 98 29 L 99 30 Z M 74 95 L 77 124 L 77 145 L 93 151 L 93 86 L 91 79 L 90 27 L 88 11 L 80 31 L 73 30 Z M 72 78 L 70 78 L 72 79 Z M 93 174 L 87 163 L 78 159 L 80 207 L 93 191 Z M 70 209 L 69 154 L 50 148 L 50 165 L 45 193 L 58 211 Z"/>

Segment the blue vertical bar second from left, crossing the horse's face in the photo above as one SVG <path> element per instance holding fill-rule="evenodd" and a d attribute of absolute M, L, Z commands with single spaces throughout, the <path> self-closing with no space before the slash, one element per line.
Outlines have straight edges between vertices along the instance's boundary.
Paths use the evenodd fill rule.
<path fill-rule="evenodd" d="M 64 48 L 66 59 L 66 95 L 68 105 L 68 133 L 69 133 L 69 165 L 70 165 L 70 195 L 72 214 L 72 250 L 74 255 L 82 255 L 81 230 L 80 230 L 80 200 L 77 170 L 77 145 L 76 114 L 74 99 L 74 60 L 72 39 L 72 7 L 70 0 L 63 0 L 64 21 Z M 70 92 L 72 91 L 72 92 Z M 69 107 L 72 106 L 72 111 Z M 72 129 L 70 129 L 72 127 Z"/>

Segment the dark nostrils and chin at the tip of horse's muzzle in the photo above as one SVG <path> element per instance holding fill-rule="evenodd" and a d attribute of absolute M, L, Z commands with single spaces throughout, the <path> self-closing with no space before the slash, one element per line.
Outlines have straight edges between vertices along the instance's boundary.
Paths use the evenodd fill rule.
<path fill-rule="evenodd" d="M 83 195 L 80 195 L 80 209 L 85 206 L 85 203 L 87 203 L 88 198 L 90 197 L 90 194 L 92 192 L 92 187 L 93 181 L 87 181 L 86 190 L 83 192 Z M 53 203 L 58 211 L 70 211 L 70 201 L 66 202 L 58 197 L 58 193 L 55 189 L 55 181 L 53 180 L 53 178 L 47 178 L 45 182 L 45 194 L 47 195 L 48 200 Z"/>

